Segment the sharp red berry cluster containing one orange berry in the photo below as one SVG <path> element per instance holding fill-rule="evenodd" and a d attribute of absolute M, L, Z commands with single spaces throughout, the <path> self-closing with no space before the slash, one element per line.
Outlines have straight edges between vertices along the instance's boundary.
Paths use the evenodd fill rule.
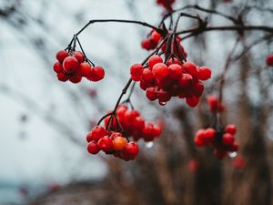
<path fill-rule="evenodd" d="M 113 154 L 116 158 L 126 161 L 136 159 L 138 154 L 138 145 L 136 142 L 127 142 L 121 133 L 107 131 L 106 128 L 96 126 L 87 134 L 87 151 L 96 155 L 100 150 L 106 154 Z"/>

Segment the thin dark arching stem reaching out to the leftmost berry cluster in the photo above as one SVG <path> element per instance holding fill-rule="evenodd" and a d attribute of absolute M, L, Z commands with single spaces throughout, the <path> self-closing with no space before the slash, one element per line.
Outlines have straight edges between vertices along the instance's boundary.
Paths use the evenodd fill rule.
<path fill-rule="evenodd" d="M 125 20 L 125 19 L 95 19 L 95 20 L 90 20 L 86 26 L 84 26 L 82 29 L 80 29 L 77 33 L 76 36 L 78 36 L 80 33 L 82 33 L 87 26 L 94 24 L 94 23 L 106 23 L 106 22 L 118 22 L 118 23 L 128 23 L 128 24 L 136 24 L 136 25 L 141 25 L 141 26 L 146 26 L 146 27 L 150 27 L 154 30 L 157 31 L 157 33 L 159 34 L 163 34 L 163 30 L 156 27 L 156 26 L 152 26 L 150 24 L 147 24 L 146 22 L 141 22 L 141 21 L 134 21 L 134 20 Z"/>

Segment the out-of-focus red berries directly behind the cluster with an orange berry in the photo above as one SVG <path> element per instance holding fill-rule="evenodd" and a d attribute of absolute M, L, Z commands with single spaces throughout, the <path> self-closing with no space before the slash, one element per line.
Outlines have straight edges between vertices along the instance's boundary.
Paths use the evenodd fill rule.
<path fill-rule="evenodd" d="M 111 116 L 105 118 L 106 127 L 110 118 Z M 130 110 L 123 104 L 116 109 L 116 118 L 112 117 L 112 126 L 110 127 L 117 131 L 119 126 L 123 129 L 126 136 L 133 138 L 135 141 L 140 138 L 143 138 L 145 141 L 153 141 L 161 134 L 159 126 L 146 122 L 136 109 Z"/>

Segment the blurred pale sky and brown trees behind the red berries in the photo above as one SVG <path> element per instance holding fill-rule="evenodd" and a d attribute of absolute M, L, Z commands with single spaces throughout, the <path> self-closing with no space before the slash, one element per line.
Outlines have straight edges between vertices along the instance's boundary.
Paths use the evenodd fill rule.
<path fill-rule="evenodd" d="M 273 26 L 272 0 L 177 0 L 243 19 L 245 25 Z M 62 83 L 52 66 L 56 52 L 90 19 L 160 22 L 156 0 L 0 1 L 0 204 L 272 204 L 273 70 L 272 34 L 207 32 L 183 42 L 188 59 L 212 68 L 213 77 L 197 108 L 181 99 L 166 107 L 148 102 L 138 85 L 135 108 L 147 120 L 164 122 L 154 144 L 140 142 L 138 159 L 90 156 L 86 133 L 117 97 L 129 67 L 147 55 L 143 26 L 104 23 L 89 26 L 79 39 L 88 56 L 106 68 L 103 81 Z M 188 9 L 202 17 L 207 13 Z M 181 19 L 179 29 L 194 26 Z M 232 22 L 209 15 L 211 26 Z M 218 160 L 193 139 L 211 118 L 207 95 L 218 95 L 218 77 L 230 56 L 224 89 L 224 122 L 238 126 L 237 158 Z"/>

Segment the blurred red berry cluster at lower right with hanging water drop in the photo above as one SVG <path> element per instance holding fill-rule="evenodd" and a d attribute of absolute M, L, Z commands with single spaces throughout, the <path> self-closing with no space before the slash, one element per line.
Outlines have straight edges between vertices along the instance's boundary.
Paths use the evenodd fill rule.
<path fill-rule="evenodd" d="M 227 125 L 225 130 L 217 131 L 214 128 L 199 129 L 196 134 L 195 144 L 199 147 L 212 145 L 214 154 L 218 159 L 223 159 L 227 152 L 238 151 L 238 144 L 234 140 L 237 128 Z"/>

